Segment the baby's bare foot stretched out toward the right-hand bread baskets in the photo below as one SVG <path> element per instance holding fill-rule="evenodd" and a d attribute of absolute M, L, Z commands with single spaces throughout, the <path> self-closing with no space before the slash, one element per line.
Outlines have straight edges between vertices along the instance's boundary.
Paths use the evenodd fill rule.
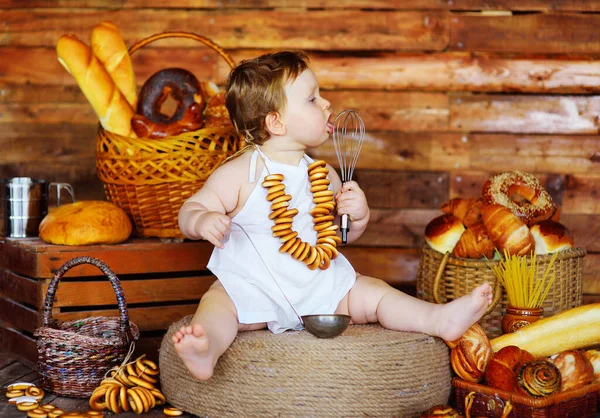
<path fill-rule="evenodd" d="M 483 316 L 492 303 L 492 287 L 484 283 L 465 295 L 442 306 L 438 335 L 446 341 L 460 338 L 467 329 Z"/>

